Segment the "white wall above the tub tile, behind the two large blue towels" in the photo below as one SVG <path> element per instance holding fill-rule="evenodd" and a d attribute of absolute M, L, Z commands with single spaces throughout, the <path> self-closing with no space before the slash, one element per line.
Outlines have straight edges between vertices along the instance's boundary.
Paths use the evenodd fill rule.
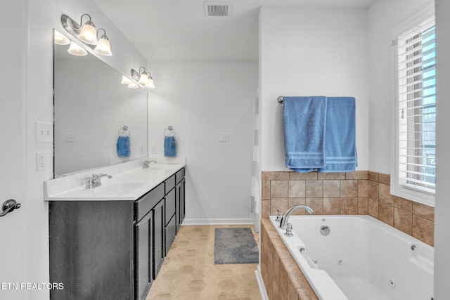
<path fill-rule="evenodd" d="M 354 96 L 358 169 L 368 169 L 366 9 L 262 7 L 262 171 L 285 171 L 278 96 Z"/>

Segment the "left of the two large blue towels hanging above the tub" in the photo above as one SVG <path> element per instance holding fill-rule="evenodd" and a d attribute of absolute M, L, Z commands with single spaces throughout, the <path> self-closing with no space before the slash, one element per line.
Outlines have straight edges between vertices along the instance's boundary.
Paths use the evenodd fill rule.
<path fill-rule="evenodd" d="M 325 167 L 327 98 L 284 97 L 285 165 L 299 173 Z"/>

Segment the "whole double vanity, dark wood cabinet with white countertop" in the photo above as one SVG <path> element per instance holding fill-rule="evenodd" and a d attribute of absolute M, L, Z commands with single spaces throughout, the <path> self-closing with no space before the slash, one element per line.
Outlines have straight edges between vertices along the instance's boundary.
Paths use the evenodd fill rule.
<path fill-rule="evenodd" d="M 44 183 L 51 299 L 146 299 L 184 220 L 185 160 L 143 162 Z M 112 177 L 86 188 L 93 173 Z"/>

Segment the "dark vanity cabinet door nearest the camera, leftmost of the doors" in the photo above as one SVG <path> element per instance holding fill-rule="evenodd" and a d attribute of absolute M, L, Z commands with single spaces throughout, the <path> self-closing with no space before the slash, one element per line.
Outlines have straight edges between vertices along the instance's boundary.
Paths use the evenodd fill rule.
<path fill-rule="evenodd" d="M 135 242 L 135 289 L 136 300 L 146 299 L 148 290 L 153 282 L 151 270 L 152 258 L 152 229 L 153 211 L 149 211 L 146 216 L 134 226 Z"/>

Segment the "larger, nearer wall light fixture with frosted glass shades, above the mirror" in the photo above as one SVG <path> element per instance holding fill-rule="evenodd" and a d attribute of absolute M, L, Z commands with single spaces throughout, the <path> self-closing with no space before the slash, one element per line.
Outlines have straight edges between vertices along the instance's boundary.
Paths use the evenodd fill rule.
<path fill-rule="evenodd" d="M 72 20 L 68 15 L 61 15 L 61 24 L 64 29 L 72 34 L 73 37 L 77 37 L 84 44 L 94 49 L 94 51 L 102 56 L 112 56 L 111 44 L 106 36 L 106 30 L 100 28 L 96 30 L 94 23 L 91 20 L 91 16 L 87 13 L 82 15 L 80 23 L 83 23 L 84 16 L 87 16 L 89 20 L 84 22 L 84 25 L 79 25 L 77 22 Z M 98 32 L 103 30 L 103 34 L 100 39 L 98 39 Z"/>

